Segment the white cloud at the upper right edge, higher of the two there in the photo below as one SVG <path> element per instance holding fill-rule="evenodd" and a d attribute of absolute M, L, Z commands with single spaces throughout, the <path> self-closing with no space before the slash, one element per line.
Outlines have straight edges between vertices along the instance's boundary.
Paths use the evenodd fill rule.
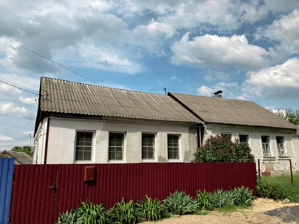
<path fill-rule="evenodd" d="M 280 41 L 282 48 L 288 53 L 299 52 L 299 10 L 282 16 L 266 28 L 258 29 L 256 38 L 269 38 Z"/>

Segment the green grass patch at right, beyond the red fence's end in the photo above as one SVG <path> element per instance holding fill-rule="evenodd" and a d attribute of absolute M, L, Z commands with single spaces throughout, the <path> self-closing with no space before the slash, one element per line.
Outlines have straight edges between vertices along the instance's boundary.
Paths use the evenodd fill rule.
<path fill-rule="evenodd" d="M 291 202 L 299 202 L 299 175 L 293 176 L 294 186 L 291 176 L 265 177 L 263 180 L 277 186 Z"/>

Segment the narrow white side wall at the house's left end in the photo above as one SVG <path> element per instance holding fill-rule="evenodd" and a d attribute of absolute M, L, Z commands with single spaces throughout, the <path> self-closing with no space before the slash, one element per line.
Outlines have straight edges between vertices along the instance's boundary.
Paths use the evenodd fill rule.
<path fill-rule="evenodd" d="M 39 123 L 35 138 L 34 138 L 34 152 L 33 152 L 33 164 L 42 164 L 45 156 L 46 134 L 47 134 L 47 120 L 45 118 L 43 122 Z"/>

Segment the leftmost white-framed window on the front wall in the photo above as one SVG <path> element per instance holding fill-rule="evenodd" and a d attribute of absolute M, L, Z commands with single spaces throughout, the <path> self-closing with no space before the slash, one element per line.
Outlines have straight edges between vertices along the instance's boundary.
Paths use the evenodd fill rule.
<path fill-rule="evenodd" d="M 76 161 L 91 161 L 93 132 L 77 131 Z"/>

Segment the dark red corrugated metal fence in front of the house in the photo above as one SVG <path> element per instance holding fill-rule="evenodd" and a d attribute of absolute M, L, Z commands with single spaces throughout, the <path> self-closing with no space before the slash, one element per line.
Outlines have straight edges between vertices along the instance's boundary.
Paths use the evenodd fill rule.
<path fill-rule="evenodd" d="M 214 191 L 245 186 L 256 195 L 255 163 L 134 163 L 91 164 L 95 181 L 84 183 L 87 164 L 15 165 L 10 208 L 11 224 L 52 224 L 58 214 L 89 199 L 106 208 L 138 201 L 145 195 L 159 200 L 169 192 Z M 54 183 L 57 190 L 53 192 Z"/>

